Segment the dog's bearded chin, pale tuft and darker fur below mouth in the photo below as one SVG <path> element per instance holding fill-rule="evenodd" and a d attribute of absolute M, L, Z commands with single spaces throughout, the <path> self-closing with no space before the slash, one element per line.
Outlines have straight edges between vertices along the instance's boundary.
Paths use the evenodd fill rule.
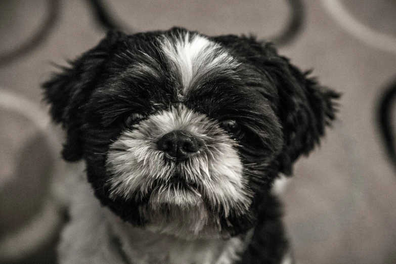
<path fill-rule="evenodd" d="M 148 202 L 140 205 L 144 228 L 183 239 L 228 237 L 220 215 L 213 213 L 195 184 L 178 178 L 158 182 Z"/>

